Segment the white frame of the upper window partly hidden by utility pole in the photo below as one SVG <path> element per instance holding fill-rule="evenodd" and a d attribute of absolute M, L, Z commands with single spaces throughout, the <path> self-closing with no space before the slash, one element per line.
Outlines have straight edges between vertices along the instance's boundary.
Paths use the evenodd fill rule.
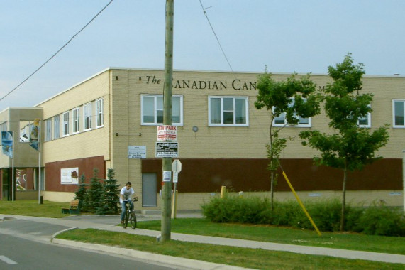
<path fill-rule="evenodd" d="M 153 115 L 150 115 L 150 117 L 153 117 L 152 122 L 147 122 L 144 121 L 144 112 L 145 112 L 145 103 L 144 99 L 145 97 L 152 97 L 153 98 Z M 162 122 L 157 121 L 157 112 L 162 111 L 163 109 L 163 104 L 161 104 L 162 109 L 157 109 L 158 104 L 157 104 L 157 99 L 158 97 L 162 98 L 163 100 L 163 95 L 140 95 L 140 124 L 143 126 L 157 126 L 157 125 L 162 125 Z M 176 100 L 179 100 L 179 104 L 173 104 L 173 102 L 176 102 Z M 162 101 L 163 102 L 163 101 Z M 172 108 L 176 107 L 176 109 L 179 111 L 178 112 L 178 117 L 179 121 L 176 121 L 175 119 L 172 119 L 172 124 L 174 126 L 182 126 L 183 125 L 183 96 L 182 95 L 173 95 L 172 97 Z M 174 114 L 174 113 L 173 113 Z"/>

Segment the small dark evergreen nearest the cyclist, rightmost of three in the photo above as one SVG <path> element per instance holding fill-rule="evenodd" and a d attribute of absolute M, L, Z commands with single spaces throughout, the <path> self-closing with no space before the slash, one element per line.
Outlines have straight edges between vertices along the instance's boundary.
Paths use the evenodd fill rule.
<path fill-rule="evenodd" d="M 120 185 L 114 176 L 114 170 L 109 168 L 107 170 L 107 179 L 104 180 L 104 202 L 101 208 L 96 210 L 97 215 L 118 214 Z"/>

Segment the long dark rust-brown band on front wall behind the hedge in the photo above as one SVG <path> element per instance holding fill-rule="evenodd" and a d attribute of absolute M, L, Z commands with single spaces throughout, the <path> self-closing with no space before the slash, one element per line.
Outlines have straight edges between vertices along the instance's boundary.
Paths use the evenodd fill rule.
<path fill-rule="evenodd" d="M 270 190 L 270 171 L 267 158 L 225 159 L 187 158 L 182 159 L 177 190 L 183 193 L 220 192 L 221 186 L 234 191 Z M 342 190 L 343 171 L 316 166 L 311 158 L 289 158 L 280 160 L 282 167 L 296 191 Z M 162 178 L 162 160 L 144 159 L 143 173 L 157 173 Z M 288 191 L 289 186 L 277 171 L 276 191 Z M 160 183 L 158 184 L 160 185 Z M 402 160 L 385 158 L 363 171 L 348 173 L 348 190 L 400 190 L 402 189 Z"/>

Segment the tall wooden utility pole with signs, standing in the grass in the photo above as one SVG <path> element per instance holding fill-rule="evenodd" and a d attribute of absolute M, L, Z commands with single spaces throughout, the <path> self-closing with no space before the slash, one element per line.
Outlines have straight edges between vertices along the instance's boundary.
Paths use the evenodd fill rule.
<path fill-rule="evenodd" d="M 166 0 L 165 37 L 165 89 L 163 90 L 163 124 L 172 125 L 172 79 L 173 79 L 173 21 L 174 0 Z M 172 158 L 163 158 L 162 181 L 162 225 L 160 241 L 170 240 L 172 211 Z M 170 172 L 170 180 L 165 181 L 165 173 Z"/>

